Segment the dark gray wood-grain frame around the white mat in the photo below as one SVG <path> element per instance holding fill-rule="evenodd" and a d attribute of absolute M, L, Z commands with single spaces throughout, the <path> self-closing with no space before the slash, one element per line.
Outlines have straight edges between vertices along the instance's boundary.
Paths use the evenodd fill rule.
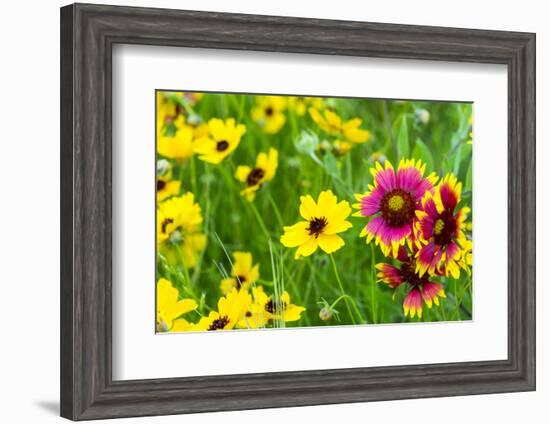
<path fill-rule="evenodd" d="M 508 359 L 113 381 L 111 51 L 116 43 L 507 65 Z M 63 417 L 528 390 L 535 390 L 534 34 L 86 4 L 61 9 Z"/>

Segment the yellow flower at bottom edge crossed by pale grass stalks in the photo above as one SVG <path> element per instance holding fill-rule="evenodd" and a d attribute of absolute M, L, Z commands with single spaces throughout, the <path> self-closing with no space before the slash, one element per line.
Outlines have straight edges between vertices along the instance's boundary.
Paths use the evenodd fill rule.
<path fill-rule="evenodd" d="M 258 286 L 252 289 L 252 295 L 254 301 L 239 321 L 239 328 L 262 328 L 269 321 L 298 321 L 306 310 L 303 306 L 292 304 L 286 291 L 277 299 L 275 295 L 268 296 L 263 287 Z"/>

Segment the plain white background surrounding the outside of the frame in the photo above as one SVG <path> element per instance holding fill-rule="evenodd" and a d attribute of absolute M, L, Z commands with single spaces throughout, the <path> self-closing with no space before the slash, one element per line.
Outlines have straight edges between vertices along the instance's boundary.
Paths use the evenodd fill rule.
<path fill-rule="evenodd" d="M 93 2 L 93 1 L 91 1 Z M 105 1 L 104 1 L 105 2 Z M 113 4 L 442 25 L 537 33 L 538 390 L 534 393 L 245 411 L 117 422 L 263 423 L 315 421 L 545 422 L 550 416 L 550 301 L 543 287 L 545 186 L 550 159 L 543 117 L 550 58 L 549 13 L 537 0 L 297 2 L 277 0 L 113 1 Z M 0 64 L 0 421 L 55 423 L 59 393 L 59 6 L 57 0 L 2 7 Z M 545 63 L 546 62 L 546 63 Z M 488 171 L 489 172 L 489 171 Z M 546 308 L 546 310 L 545 310 Z"/>

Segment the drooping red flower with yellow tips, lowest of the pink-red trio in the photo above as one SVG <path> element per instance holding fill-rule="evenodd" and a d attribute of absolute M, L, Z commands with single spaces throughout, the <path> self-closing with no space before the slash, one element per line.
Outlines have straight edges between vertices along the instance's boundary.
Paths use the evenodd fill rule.
<path fill-rule="evenodd" d="M 428 308 L 432 304 L 439 305 L 439 298 L 445 297 L 445 290 L 440 283 L 430 281 L 428 274 L 420 275 L 417 272 L 415 255 L 408 254 L 404 247 L 399 249 L 397 259 L 399 266 L 388 263 L 379 263 L 376 269 L 377 277 L 392 289 L 397 289 L 402 284 L 408 285 L 408 292 L 403 300 L 403 312 L 405 316 L 422 318 L 422 302 Z"/>

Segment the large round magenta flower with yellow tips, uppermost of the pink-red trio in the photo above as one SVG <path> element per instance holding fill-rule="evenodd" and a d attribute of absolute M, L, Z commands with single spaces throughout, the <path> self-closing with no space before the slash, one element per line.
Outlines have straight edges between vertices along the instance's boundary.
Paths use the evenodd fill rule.
<path fill-rule="evenodd" d="M 355 195 L 359 203 L 353 206 L 359 211 L 354 216 L 370 218 L 360 236 L 366 236 L 367 243 L 374 239 L 386 256 L 395 256 L 413 233 L 420 201 L 433 190 L 437 176 L 432 173 L 424 177 L 425 169 L 420 160 L 401 160 L 397 172 L 389 161 L 384 167 L 376 162 L 371 169 L 374 186 L 369 184 L 367 193 Z"/>

